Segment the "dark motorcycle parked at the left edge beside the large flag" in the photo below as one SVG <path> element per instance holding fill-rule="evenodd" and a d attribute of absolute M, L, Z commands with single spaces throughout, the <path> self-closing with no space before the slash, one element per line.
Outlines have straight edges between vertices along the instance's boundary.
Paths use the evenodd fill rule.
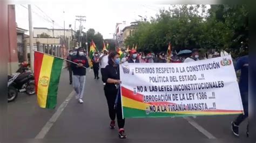
<path fill-rule="evenodd" d="M 8 76 L 8 102 L 14 101 L 18 92 L 26 92 L 28 95 L 35 94 L 35 78 L 31 70 L 22 67 L 17 73 Z"/>

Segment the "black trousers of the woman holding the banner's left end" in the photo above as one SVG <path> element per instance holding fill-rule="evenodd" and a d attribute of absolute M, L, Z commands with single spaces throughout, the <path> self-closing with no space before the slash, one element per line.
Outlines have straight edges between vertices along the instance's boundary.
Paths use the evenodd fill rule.
<path fill-rule="evenodd" d="M 109 117 L 111 120 L 114 120 L 117 115 L 117 124 L 119 128 L 124 128 L 125 119 L 123 119 L 122 114 L 122 105 L 121 105 L 121 99 L 118 99 L 117 107 L 114 109 L 114 102 L 116 101 L 116 95 L 117 95 L 117 89 L 110 90 L 106 89 L 104 90 L 105 96 L 107 99 L 107 105 L 109 106 Z"/>

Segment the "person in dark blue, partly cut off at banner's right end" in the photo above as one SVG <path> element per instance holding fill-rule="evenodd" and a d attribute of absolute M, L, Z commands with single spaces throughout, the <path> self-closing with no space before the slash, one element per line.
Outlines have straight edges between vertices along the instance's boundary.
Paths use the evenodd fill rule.
<path fill-rule="evenodd" d="M 239 89 L 242 99 L 242 106 L 244 107 L 244 115 L 239 115 L 234 121 L 232 121 L 232 132 L 234 135 L 239 136 L 239 125 L 248 117 L 248 67 L 249 58 L 248 55 L 242 56 L 238 59 L 235 65 L 235 71 L 241 70 L 241 76 L 239 80 Z M 248 137 L 248 123 L 247 123 L 247 137 Z"/>

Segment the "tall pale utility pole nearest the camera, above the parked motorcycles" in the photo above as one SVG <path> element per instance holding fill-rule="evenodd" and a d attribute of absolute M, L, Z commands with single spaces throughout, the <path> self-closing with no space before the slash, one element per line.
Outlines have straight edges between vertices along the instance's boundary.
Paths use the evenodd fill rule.
<path fill-rule="evenodd" d="M 30 49 L 30 67 L 34 71 L 34 51 L 33 51 L 33 27 L 32 27 L 32 12 L 31 5 L 29 4 L 29 49 Z M 26 47 L 25 47 L 26 48 Z"/>

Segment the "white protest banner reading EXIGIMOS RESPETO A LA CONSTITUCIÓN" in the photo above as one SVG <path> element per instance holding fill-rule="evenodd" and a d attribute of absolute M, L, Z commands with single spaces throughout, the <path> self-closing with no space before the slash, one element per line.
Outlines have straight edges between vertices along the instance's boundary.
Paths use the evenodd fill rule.
<path fill-rule="evenodd" d="M 124 118 L 244 113 L 230 55 L 188 63 L 122 63 Z"/>

